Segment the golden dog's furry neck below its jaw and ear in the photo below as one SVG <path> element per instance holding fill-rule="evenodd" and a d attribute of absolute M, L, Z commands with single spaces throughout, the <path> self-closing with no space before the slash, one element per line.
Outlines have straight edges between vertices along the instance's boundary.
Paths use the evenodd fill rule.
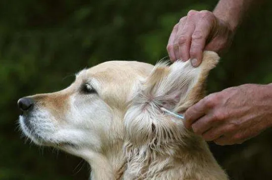
<path fill-rule="evenodd" d="M 110 144 L 99 153 L 86 149 L 79 155 L 91 165 L 91 180 L 227 180 L 206 142 L 182 131 L 182 125 L 173 124 L 176 135 L 164 134 L 156 142 L 137 144 L 128 138 L 123 121 L 113 122 L 120 123 L 113 126 L 120 129 L 111 130 L 106 140 Z"/>

